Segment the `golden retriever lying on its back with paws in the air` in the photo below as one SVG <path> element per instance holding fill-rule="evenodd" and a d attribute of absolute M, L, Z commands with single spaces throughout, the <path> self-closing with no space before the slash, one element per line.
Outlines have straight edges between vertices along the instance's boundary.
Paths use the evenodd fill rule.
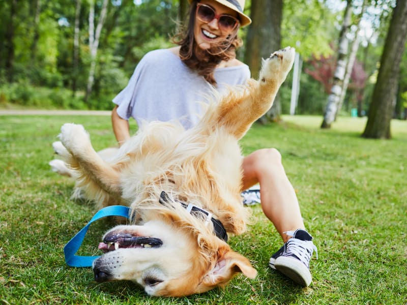
<path fill-rule="evenodd" d="M 209 101 L 199 123 L 153 121 L 108 154 L 98 154 L 81 125 L 65 124 L 55 171 L 76 180 L 75 194 L 98 208 L 131 208 L 131 223 L 107 231 L 93 262 L 95 280 L 130 280 L 152 296 L 185 296 L 257 271 L 227 244 L 246 231 L 238 141 L 273 104 L 293 66 L 294 48 L 263 60 L 259 79 Z M 58 163 L 58 162 L 57 162 Z M 65 167 L 65 168 L 64 168 Z"/>

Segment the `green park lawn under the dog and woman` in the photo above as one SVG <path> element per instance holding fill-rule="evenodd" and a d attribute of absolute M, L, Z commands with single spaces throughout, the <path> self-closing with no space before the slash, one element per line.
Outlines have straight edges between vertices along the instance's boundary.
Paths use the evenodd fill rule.
<path fill-rule="evenodd" d="M 5 304 L 403 304 L 407 302 L 407 122 L 393 121 L 392 140 L 362 139 L 365 120 L 342 118 L 320 130 L 321 117 L 285 117 L 255 125 L 245 154 L 276 147 L 318 247 L 313 283 L 301 288 L 267 266 L 281 240 L 261 213 L 230 245 L 258 277 L 183 298 L 148 297 L 127 282 L 97 284 L 90 268 L 65 265 L 63 247 L 93 216 L 69 199 L 72 182 L 49 170 L 51 143 L 63 123 L 85 126 L 96 149 L 114 145 L 103 116 L 0 116 L 0 301 Z M 98 254 L 102 233 L 90 228 L 82 254 Z"/>

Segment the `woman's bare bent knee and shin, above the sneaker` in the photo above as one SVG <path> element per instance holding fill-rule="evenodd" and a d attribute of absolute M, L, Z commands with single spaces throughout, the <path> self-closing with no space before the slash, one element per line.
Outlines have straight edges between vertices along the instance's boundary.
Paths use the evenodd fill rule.
<path fill-rule="evenodd" d="M 284 232 L 305 229 L 297 195 L 285 174 L 277 149 L 256 150 L 244 158 L 243 175 L 243 190 L 260 184 L 261 208 L 284 242 L 290 237 Z"/>

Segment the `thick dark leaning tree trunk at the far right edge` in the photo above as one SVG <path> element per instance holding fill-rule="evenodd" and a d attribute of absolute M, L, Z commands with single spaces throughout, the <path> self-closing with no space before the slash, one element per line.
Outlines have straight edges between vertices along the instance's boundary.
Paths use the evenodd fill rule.
<path fill-rule="evenodd" d="M 380 60 L 369 115 L 362 137 L 390 139 L 401 56 L 407 38 L 407 1 L 397 0 Z"/>

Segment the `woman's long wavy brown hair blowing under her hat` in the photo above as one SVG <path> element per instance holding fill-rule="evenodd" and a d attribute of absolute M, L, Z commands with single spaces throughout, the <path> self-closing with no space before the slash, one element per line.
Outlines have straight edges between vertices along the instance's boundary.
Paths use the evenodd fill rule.
<path fill-rule="evenodd" d="M 188 22 L 181 31 L 173 37 L 172 41 L 180 45 L 180 58 L 189 68 L 196 70 L 209 83 L 216 86 L 214 71 L 222 60 L 236 57 L 236 49 L 243 41 L 238 37 L 239 25 L 226 39 L 211 44 L 211 48 L 201 50 L 197 47 L 194 37 L 195 11 L 198 0 L 194 0 L 189 8 Z"/>

